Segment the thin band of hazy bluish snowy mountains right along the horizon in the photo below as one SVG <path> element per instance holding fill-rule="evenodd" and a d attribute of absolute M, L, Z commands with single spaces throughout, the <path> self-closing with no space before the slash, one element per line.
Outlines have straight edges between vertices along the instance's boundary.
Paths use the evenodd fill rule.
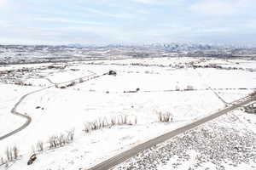
<path fill-rule="evenodd" d="M 67 50 L 69 48 L 137 48 L 148 50 L 161 50 L 166 52 L 193 52 L 193 51 L 205 51 L 205 50 L 221 50 L 221 51 L 240 51 L 240 50 L 253 50 L 255 48 L 249 48 L 247 46 L 239 47 L 233 45 L 215 45 L 215 44 L 203 44 L 203 43 L 149 43 L 142 45 L 127 45 L 127 44 L 109 44 L 109 45 L 82 45 L 79 43 L 68 45 L 0 45 L 1 48 L 14 48 L 20 50 L 49 50 L 59 51 Z"/>

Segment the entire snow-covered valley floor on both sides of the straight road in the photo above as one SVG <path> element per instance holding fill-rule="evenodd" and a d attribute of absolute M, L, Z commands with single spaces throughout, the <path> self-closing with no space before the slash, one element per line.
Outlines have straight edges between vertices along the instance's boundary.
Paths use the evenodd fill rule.
<path fill-rule="evenodd" d="M 212 64 L 222 65 L 224 68 L 193 67 Z M 10 113 L 20 97 L 45 88 L 28 95 L 18 105 L 17 111 L 30 116 L 32 122 L 19 133 L 0 140 L 0 169 L 73 170 L 93 167 L 148 139 L 211 115 L 252 93 L 256 88 L 256 74 L 246 69 L 255 64 L 255 61 L 247 59 L 230 59 L 228 62 L 226 59 L 173 57 L 0 67 L 1 71 L 11 72 L 0 76 L 0 92 L 3 94 L 0 96 L 0 136 L 24 123 L 20 117 Z M 29 71 L 20 72 L 23 67 Z M 240 69 L 230 70 L 231 67 Z M 115 71 L 117 75 L 108 75 L 108 71 Z M 160 122 L 160 113 L 170 113 L 172 122 Z M 114 126 L 108 125 L 84 133 L 88 123 L 99 120 L 109 123 L 113 117 L 125 117 L 126 123 L 116 123 Z M 177 148 L 173 148 L 172 142 L 167 141 L 151 151 L 145 150 L 140 157 L 132 158 L 117 168 L 140 167 L 140 163 L 143 163 L 146 167 L 152 164 L 153 167 L 150 168 L 153 169 L 168 169 L 170 166 L 196 169 L 206 165 L 206 162 L 207 166 L 217 162 L 214 166 L 219 167 L 222 164 L 218 158 L 207 155 L 209 150 L 215 152 L 217 147 L 211 142 L 221 144 L 226 133 L 227 141 L 231 145 L 226 144 L 225 147 L 234 146 L 232 139 L 235 135 L 237 139 L 247 138 L 251 145 L 238 145 L 242 150 L 247 150 L 247 147 L 253 147 L 254 144 L 253 139 L 245 136 L 247 133 L 252 136 L 255 133 L 253 121 L 253 115 L 247 118 L 241 111 L 235 111 L 171 139 Z M 51 137 L 66 135 L 70 130 L 74 130 L 72 143 L 49 149 Z M 206 140 L 209 142 L 205 142 Z M 43 152 L 38 151 L 38 142 L 44 144 Z M 6 166 L 6 149 L 14 146 L 19 150 L 19 157 Z M 166 149 L 161 152 L 160 148 Z M 27 166 L 26 162 L 34 152 L 38 154 L 38 159 L 31 166 Z M 145 160 L 147 156 L 151 159 L 151 152 L 156 156 L 155 162 L 147 164 L 148 161 Z M 241 153 L 243 152 L 238 155 Z M 162 159 L 160 155 L 166 156 L 168 160 Z M 183 156 L 189 160 L 183 164 L 188 165 L 187 167 L 179 165 L 183 162 Z M 221 159 L 229 160 L 230 157 L 225 155 Z M 174 161 L 178 164 L 173 165 Z M 198 162 L 200 166 L 197 166 Z M 253 162 L 253 158 L 249 162 Z M 236 162 L 231 161 L 231 164 L 234 163 Z M 249 163 L 248 166 L 252 167 L 254 164 Z M 145 169 L 149 168 L 146 167 Z"/>

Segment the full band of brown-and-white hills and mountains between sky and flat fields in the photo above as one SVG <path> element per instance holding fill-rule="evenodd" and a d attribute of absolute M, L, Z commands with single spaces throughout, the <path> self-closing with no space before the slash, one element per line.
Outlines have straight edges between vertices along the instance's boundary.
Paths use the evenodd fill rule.
<path fill-rule="evenodd" d="M 256 48 L 195 43 L 151 43 L 143 45 L 0 45 L 0 65 L 66 62 L 96 59 L 147 57 L 249 57 Z"/>

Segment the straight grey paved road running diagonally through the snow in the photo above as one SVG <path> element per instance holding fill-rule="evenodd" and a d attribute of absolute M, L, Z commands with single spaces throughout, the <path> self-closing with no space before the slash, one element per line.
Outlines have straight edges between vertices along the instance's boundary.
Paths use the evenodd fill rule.
<path fill-rule="evenodd" d="M 241 107 L 242 105 L 247 105 L 248 103 L 252 102 L 255 99 L 256 99 L 256 97 L 253 96 L 253 98 L 248 98 L 244 101 L 241 101 L 240 103 L 237 103 L 235 105 L 227 107 L 222 111 L 218 111 L 218 112 L 212 114 L 211 116 L 204 117 L 198 121 L 192 122 L 189 125 L 177 128 L 176 130 L 174 130 L 170 133 L 163 134 L 155 139 L 148 140 L 147 142 L 145 142 L 143 144 L 139 144 L 136 147 L 132 148 L 131 150 L 126 150 L 125 152 L 120 153 L 117 156 L 113 156 L 112 158 L 110 158 L 106 161 L 103 161 L 102 163 L 96 165 L 95 167 L 91 167 L 88 170 L 107 170 L 107 169 L 113 168 L 113 167 L 119 165 L 119 163 L 131 158 L 132 156 L 136 156 L 139 152 L 146 150 L 148 148 L 151 148 L 155 144 L 160 144 L 160 143 L 166 141 L 167 139 L 171 139 L 172 137 L 177 136 L 178 134 L 184 133 L 192 128 L 198 127 L 201 124 L 203 124 L 205 122 L 209 122 L 218 116 L 222 116 L 222 115 L 228 113 L 229 111 L 235 110 L 236 108 Z"/>

